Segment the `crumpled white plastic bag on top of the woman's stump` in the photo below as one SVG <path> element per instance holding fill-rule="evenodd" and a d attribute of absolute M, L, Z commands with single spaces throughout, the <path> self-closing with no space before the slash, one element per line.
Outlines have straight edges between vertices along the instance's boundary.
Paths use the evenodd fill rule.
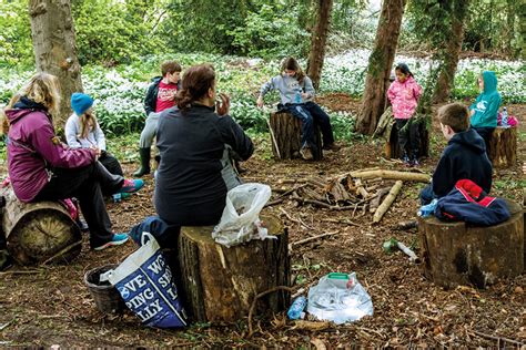
<path fill-rule="evenodd" d="M 256 183 L 243 184 L 229 191 L 221 222 L 212 231 L 212 238 L 226 247 L 251 239 L 276 238 L 269 236 L 260 222 L 260 212 L 270 197 L 271 187 Z"/>

